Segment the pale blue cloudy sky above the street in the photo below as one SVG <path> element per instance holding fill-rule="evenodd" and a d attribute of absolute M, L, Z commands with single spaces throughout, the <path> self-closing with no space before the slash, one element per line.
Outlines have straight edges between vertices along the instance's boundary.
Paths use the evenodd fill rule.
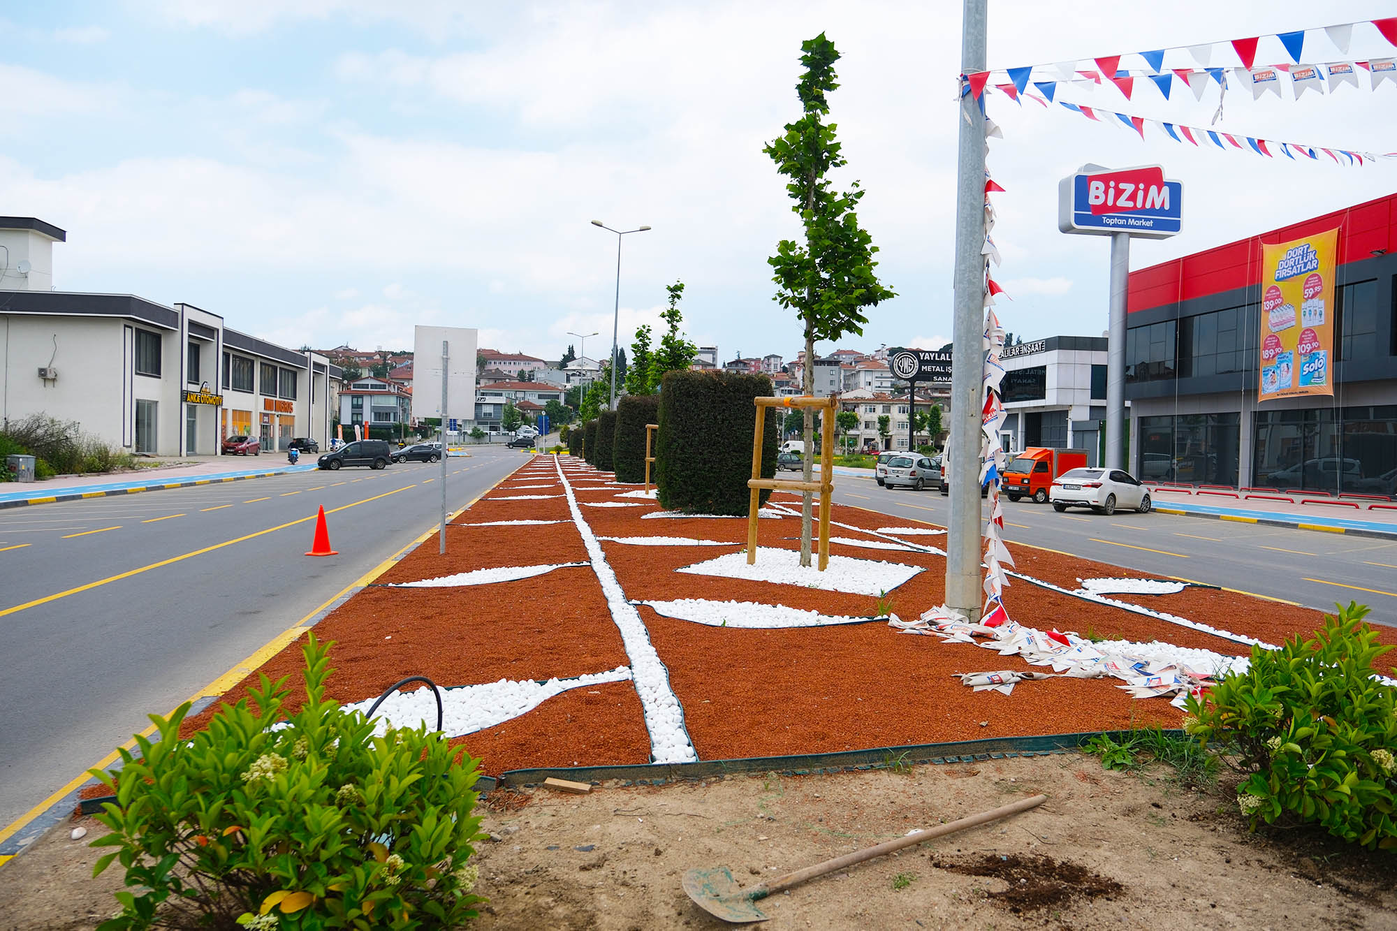
<path fill-rule="evenodd" d="M 1081 60 L 1394 15 L 1391 3 L 992 0 L 989 64 Z M 767 257 L 799 235 L 761 151 L 799 116 L 800 42 L 841 53 L 831 95 L 861 224 L 895 298 L 834 348 L 939 348 L 951 333 L 960 4 L 450 3 L 447 0 L 0 0 L 0 215 L 67 231 L 64 291 L 219 313 L 284 345 L 411 348 L 414 324 L 479 344 L 605 358 L 616 229 L 619 331 L 685 330 L 719 361 L 803 348 Z M 1235 64 L 1218 45 L 1214 64 Z M 1361 24 L 1306 62 L 1397 53 Z M 1263 38 L 1257 64 L 1288 60 Z M 1122 62 L 1127 67 L 1130 60 Z M 1165 67 L 1190 67 L 1186 50 Z M 1141 67 L 1134 59 L 1134 67 Z M 1003 78 L 999 78 L 1003 80 Z M 1037 78 L 1035 78 L 1037 80 Z M 1203 101 L 1109 84 L 1060 99 L 1210 126 Z M 1348 168 L 1180 145 L 1069 110 L 988 99 L 1002 266 L 997 310 L 1025 340 L 1105 330 L 1108 243 L 1058 232 L 1058 180 L 1087 162 L 1161 164 L 1185 232 L 1134 240 L 1141 268 L 1397 190 L 1397 161 Z M 1397 150 L 1397 82 L 1331 95 L 1225 96 L 1213 126 Z M 569 333 L 592 334 L 585 341 Z"/>

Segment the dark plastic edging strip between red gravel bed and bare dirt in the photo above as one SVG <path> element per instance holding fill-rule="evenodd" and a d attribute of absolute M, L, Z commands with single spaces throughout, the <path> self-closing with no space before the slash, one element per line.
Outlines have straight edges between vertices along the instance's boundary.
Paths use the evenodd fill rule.
<path fill-rule="evenodd" d="M 1171 737 L 1182 737 L 1182 730 L 1165 730 Z M 511 769 L 500 773 L 499 784 L 536 786 L 545 779 L 597 783 L 620 779 L 636 783 L 664 784 L 672 780 L 739 776 L 777 772 L 782 774 L 838 773 L 851 769 L 883 769 L 904 763 L 971 763 L 1017 756 L 1046 756 L 1076 749 L 1094 737 L 1119 738 L 1130 731 L 1083 731 L 1077 734 L 1044 734 L 1035 737 L 992 737 L 978 741 L 949 744 L 912 744 L 908 746 L 876 746 L 862 751 L 834 753 L 798 753 L 787 756 L 746 756 L 712 759 L 697 763 L 636 763 L 631 766 L 557 766 L 539 769 Z"/>

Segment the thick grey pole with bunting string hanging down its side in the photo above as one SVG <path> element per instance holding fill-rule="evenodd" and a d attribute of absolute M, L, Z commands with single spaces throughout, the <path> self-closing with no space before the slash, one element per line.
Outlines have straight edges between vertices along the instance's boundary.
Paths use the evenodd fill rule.
<path fill-rule="evenodd" d="M 964 0 L 961 74 L 986 68 L 986 0 Z M 967 92 L 956 113 L 960 127 L 956 185 L 956 329 L 951 363 L 951 488 L 946 555 L 946 605 L 978 621 L 983 593 L 979 575 L 979 439 L 985 377 L 985 120 Z"/>

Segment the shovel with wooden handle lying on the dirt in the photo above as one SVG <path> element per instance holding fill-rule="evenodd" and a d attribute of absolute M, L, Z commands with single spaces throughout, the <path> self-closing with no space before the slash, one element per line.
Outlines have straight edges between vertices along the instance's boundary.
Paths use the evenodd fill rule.
<path fill-rule="evenodd" d="M 886 840 L 876 847 L 865 847 L 863 850 L 856 850 L 851 854 L 835 857 L 834 860 L 826 860 L 824 863 L 817 863 L 813 867 L 806 867 L 805 869 L 796 869 L 795 872 L 778 876 L 768 885 L 753 886 L 752 889 L 739 888 L 738 881 L 732 878 L 732 871 L 728 869 L 728 867 L 718 867 L 715 869 L 690 869 L 685 874 L 683 886 L 685 892 L 689 893 L 689 897 L 693 899 L 700 909 L 717 918 L 722 918 L 724 921 L 732 924 L 766 921 L 767 916 L 763 914 L 761 909 L 756 906 L 759 899 L 766 899 L 767 896 L 789 889 L 791 886 L 798 886 L 806 879 L 814 879 L 816 876 L 823 876 L 827 872 L 834 872 L 835 869 L 842 869 L 844 867 L 852 867 L 854 864 L 882 857 L 883 854 L 893 853 L 894 850 L 901 850 L 904 847 L 932 840 L 933 837 L 943 837 L 946 835 L 956 833 L 957 830 L 975 828 L 977 825 L 1017 815 L 1021 811 L 1037 808 L 1045 801 L 1048 801 L 1046 795 L 1024 798 L 1023 801 L 1013 802 L 1011 805 L 1002 805 L 1000 808 L 995 808 L 992 811 L 983 811 L 978 815 L 970 815 L 968 818 L 937 825 L 936 828 L 918 830 L 907 835 L 905 837 Z"/>

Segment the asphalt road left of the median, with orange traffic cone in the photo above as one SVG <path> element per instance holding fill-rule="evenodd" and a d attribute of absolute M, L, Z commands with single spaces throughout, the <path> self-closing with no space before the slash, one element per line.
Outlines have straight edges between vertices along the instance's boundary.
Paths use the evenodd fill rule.
<path fill-rule="evenodd" d="M 447 507 L 525 461 L 448 459 Z M 0 829 L 429 530 L 440 475 L 404 463 L 0 512 Z M 337 556 L 303 555 L 320 505 Z"/>

